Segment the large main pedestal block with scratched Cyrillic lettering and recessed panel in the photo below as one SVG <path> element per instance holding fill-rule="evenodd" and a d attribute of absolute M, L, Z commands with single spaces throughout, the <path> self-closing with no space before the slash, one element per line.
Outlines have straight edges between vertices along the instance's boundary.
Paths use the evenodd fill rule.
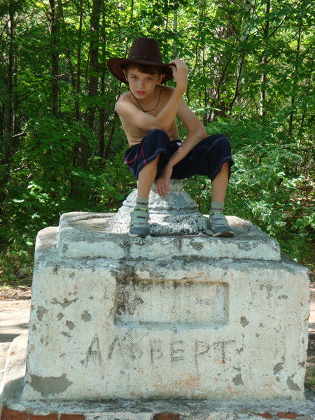
<path fill-rule="evenodd" d="M 304 400 L 307 269 L 65 258 L 57 234 L 36 241 L 25 400 Z"/>

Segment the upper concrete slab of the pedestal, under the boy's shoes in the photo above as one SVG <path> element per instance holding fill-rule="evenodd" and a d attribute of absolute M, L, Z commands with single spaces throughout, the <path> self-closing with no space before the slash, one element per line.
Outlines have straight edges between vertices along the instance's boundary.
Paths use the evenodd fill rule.
<path fill-rule="evenodd" d="M 57 249 L 70 258 L 139 258 L 169 260 L 184 258 L 237 258 L 279 261 L 280 248 L 275 239 L 251 222 L 235 216 L 228 221 L 235 230 L 233 238 L 208 235 L 148 236 L 144 239 L 112 232 L 112 214 L 76 212 L 63 214 L 59 222 Z M 116 217 L 116 216 L 115 216 Z M 202 216 L 205 220 L 207 218 Z M 52 228 L 46 228 L 48 235 Z M 41 237 L 38 237 L 41 241 Z"/>

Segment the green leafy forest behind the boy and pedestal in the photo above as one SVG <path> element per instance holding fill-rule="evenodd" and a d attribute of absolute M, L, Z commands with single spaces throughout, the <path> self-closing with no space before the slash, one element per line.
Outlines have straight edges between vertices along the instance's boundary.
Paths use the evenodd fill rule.
<path fill-rule="evenodd" d="M 314 16 L 309 0 L 0 2 L 2 288 L 31 285 L 38 230 L 69 211 L 117 211 L 137 187 L 114 112 L 127 86 L 106 68 L 136 36 L 186 61 L 186 102 L 208 134 L 228 135 L 225 214 L 314 279 Z M 184 188 L 207 214 L 209 179 Z"/>

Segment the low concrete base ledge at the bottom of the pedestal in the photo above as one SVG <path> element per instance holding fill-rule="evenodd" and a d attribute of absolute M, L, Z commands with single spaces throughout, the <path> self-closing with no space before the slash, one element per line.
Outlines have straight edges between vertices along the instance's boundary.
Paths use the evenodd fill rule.
<path fill-rule="evenodd" d="M 84 415 L 85 420 L 153 420 L 158 413 L 180 415 L 180 420 L 262 420 L 290 418 L 314 420 L 315 395 L 304 401 L 262 400 L 23 400 L 27 335 L 15 338 L 10 348 L 3 403 L 13 410 L 34 415 L 66 413 Z M 0 401 L 1 407 L 1 401 Z M 157 416 L 157 417 L 155 417 Z M 17 417 L 19 418 L 19 417 Z M 78 417 L 79 418 L 79 417 Z M 57 420 L 57 419 L 56 419 Z"/>

